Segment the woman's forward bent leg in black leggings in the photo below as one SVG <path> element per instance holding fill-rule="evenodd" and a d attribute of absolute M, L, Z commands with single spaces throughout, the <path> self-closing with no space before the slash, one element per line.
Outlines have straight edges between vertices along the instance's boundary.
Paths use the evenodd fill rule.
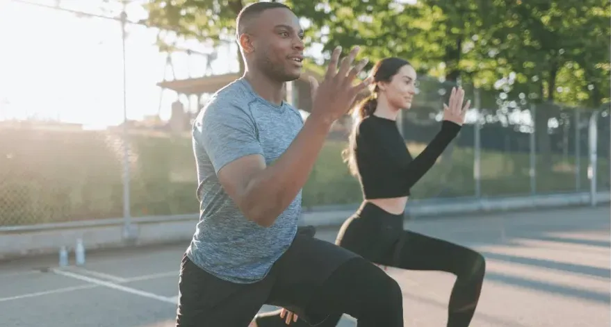
<path fill-rule="evenodd" d="M 473 319 L 485 275 L 483 255 L 451 242 L 405 231 L 393 251 L 377 262 L 408 270 L 455 274 L 448 310 L 448 327 L 468 327 Z"/>

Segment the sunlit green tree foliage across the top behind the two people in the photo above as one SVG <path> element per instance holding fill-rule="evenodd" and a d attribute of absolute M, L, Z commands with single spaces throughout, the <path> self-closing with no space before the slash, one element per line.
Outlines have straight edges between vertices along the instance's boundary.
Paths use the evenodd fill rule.
<path fill-rule="evenodd" d="M 197 40 L 234 40 L 248 0 L 151 0 L 147 24 Z M 529 94 L 534 101 L 610 101 L 611 2 L 607 0 L 279 1 L 327 58 L 362 46 L 371 64 L 411 60 L 420 74 Z M 323 62 L 317 62 L 322 65 Z"/>

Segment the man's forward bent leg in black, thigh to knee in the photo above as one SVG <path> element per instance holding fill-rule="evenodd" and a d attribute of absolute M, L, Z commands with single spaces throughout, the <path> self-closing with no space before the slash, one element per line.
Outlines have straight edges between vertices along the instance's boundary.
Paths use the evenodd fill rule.
<path fill-rule="evenodd" d="M 332 243 L 297 236 L 279 262 L 267 301 L 311 326 L 336 326 L 343 313 L 359 327 L 402 327 L 400 286 L 368 260 Z"/>

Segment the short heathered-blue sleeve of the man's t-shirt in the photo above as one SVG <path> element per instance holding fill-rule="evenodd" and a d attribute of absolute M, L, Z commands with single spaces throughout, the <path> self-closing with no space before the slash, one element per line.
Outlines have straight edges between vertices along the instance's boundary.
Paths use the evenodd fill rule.
<path fill-rule="evenodd" d="M 257 127 L 246 108 L 213 103 L 196 122 L 195 140 L 202 146 L 218 174 L 225 165 L 239 158 L 263 156 Z"/>

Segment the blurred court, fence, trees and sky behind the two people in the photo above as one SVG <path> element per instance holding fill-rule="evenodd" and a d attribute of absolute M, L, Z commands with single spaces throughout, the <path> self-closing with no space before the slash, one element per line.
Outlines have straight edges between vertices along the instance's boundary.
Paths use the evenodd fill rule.
<path fill-rule="evenodd" d="M 191 124 L 242 76 L 234 24 L 252 2 L 0 0 L 0 326 L 174 326 L 199 213 Z M 407 228 L 486 257 L 472 327 L 611 326 L 610 0 L 279 2 L 306 29 L 286 85 L 305 118 L 307 77 L 338 45 L 414 65 L 398 120 L 414 156 L 466 89 L 473 108 Z M 362 200 L 341 159 L 352 124 L 337 121 L 303 190 L 329 242 Z M 445 326 L 454 276 L 386 271 L 407 326 Z"/>

